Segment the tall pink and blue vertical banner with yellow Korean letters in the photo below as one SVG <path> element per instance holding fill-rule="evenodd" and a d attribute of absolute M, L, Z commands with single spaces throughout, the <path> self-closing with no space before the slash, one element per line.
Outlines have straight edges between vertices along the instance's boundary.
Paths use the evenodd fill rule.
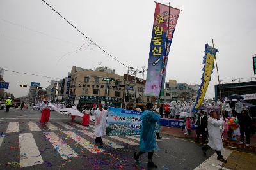
<path fill-rule="evenodd" d="M 156 3 L 145 94 L 159 96 L 179 13 L 176 8 Z"/>

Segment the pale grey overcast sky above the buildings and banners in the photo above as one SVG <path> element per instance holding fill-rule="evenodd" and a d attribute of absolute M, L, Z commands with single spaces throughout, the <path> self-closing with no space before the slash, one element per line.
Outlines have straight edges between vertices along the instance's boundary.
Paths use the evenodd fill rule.
<path fill-rule="evenodd" d="M 154 1 L 47 1 L 86 36 L 124 64 L 147 69 L 152 36 Z M 168 3 L 161 1 L 160 3 Z M 168 59 L 166 81 L 201 83 L 205 43 L 214 38 L 220 79 L 253 77 L 256 53 L 255 0 L 173 0 L 182 9 Z M 127 69 L 108 57 L 40 0 L 0 1 L 0 67 L 56 78 L 72 66 L 94 69 L 108 66 L 123 75 Z M 77 51 L 81 46 L 83 48 Z M 70 53 L 68 53 L 70 52 Z M 254 76 L 255 77 L 255 76 Z M 15 97 L 28 94 L 31 81 L 47 87 L 49 78 L 4 71 Z M 206 98 L 214 97 L 218 83 L 212 74 Z"/>

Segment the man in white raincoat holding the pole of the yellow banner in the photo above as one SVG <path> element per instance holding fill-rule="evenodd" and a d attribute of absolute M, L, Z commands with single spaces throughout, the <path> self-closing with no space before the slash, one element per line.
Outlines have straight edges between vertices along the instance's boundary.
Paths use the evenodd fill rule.
<path fill-rule="evenodd" d="M 223 159 L 223 156 L 221 155 L 221 150 L 223 150 L 224 147 L 221 139 L 220 127 L 223 124 L 223 117 L 218 116 L 215 111 L 210 111 L 210 117 L 208 118 L 208 145 L 202 147 L 202 150 L 204 154 L 206 154 L 206 151 L 209 148 L 212 148 L 218 155 L 217 159 L 227 163 L 227 160 Z"/>

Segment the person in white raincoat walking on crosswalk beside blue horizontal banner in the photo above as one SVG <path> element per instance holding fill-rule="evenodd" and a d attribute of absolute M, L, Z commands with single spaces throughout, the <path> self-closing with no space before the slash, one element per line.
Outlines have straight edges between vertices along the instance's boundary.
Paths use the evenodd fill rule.
<path fill-rule="evenodd" d="M 99 104 L 99 108 L 95 110 L 95 132 L 96 136 L 95 143 L 100 146 L 103 145 L 103 141 L 101 139 L 102 136 L 106 135 L 106 117 L 108 115 L 108 110 L 104 110 L 102 105 Z"/>

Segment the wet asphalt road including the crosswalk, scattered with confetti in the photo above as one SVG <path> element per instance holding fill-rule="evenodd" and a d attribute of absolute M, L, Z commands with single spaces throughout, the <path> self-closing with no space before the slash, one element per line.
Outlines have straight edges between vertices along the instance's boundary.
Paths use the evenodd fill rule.
<path fill-rule="evenodd" d="M 100 149 L 94 145 L 93 123 L 81 127 L 81 118 L 72 123 L 70 117 L 51 111 L 50 124 L 42 126 L 40 111 L 4 111 L 0 110 L 0 169 L 147 169 L 147 153 L 134 162 L 138 136 L 106 136 L 108 142 Z M 153 158 L 158 169 L 195 169 L 214 157 L 211 150 L 203 155 L 199 144 L 163 137 Z"/>

